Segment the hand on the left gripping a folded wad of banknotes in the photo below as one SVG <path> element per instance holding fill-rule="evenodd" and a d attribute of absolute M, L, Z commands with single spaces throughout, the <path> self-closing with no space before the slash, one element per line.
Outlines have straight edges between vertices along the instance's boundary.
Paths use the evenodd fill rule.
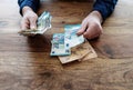
<path fill-rule="evenodd" d="M 22 20 L 21 20 L 21 30 L 27 30 L 27 29 L 37 29 L 37 20 L 38 16 L 33 10 L 29 7 L 24 7 L 22 9 Z"/>

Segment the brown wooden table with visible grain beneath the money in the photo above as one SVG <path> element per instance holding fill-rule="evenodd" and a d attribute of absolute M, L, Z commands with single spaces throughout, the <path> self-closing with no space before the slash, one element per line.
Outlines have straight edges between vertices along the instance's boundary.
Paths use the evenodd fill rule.
<path fill-rule="evenodd" d="M 51 12 L 52 29 L 27 38 L 18 34 L 17 0 L 1 0 L 0 90 L 133 90 L 132 0 L 119 0 L 103 34 L 90 41 L 98 58 L 62 66 L 50 57 L 52 34 L 66 23 L 81 23 L 91 11 L 92 3 L 80 1 L 42 1 L 39 13 Z"/>

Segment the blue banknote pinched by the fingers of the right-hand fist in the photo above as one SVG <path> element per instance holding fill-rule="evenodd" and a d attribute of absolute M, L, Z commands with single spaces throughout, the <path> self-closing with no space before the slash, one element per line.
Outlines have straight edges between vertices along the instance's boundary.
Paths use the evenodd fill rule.
<path fill-rule="evenodd" d="M 70 43 L 70 47 L 75 47 L 84 42 L 83 36 L 78 36 L 76 31 L 81 28 L 81 24 L 65 24 L 64 34 L 65 41 Z"/>

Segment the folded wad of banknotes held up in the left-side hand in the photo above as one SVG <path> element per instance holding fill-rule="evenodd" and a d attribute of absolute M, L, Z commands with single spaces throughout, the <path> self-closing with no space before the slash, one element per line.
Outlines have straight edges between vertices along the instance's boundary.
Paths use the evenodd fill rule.
<path fill-rule="evenodd" d="M 44 11 L 37 21 L 37 29 L 35 30 L 22 30 L 19 33 L 23 36 L 35 36 L 35 34 L 43 34 L 48 29 L 51 28 L 51 14 L 48 11 Z"/>

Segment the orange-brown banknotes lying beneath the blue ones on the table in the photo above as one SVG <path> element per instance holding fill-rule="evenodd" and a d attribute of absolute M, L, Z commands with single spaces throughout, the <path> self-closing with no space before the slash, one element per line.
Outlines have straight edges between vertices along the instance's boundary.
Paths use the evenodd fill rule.
<path fill-rule="evenodd" d="M 96 58 L 98 54 L 91 44 L 85 41 L 76 47 L 71 48 L 71 56 L 59 57 L 61 63 L 69 63 L 72 61 L 84 61 L 92 58 Z"/>

